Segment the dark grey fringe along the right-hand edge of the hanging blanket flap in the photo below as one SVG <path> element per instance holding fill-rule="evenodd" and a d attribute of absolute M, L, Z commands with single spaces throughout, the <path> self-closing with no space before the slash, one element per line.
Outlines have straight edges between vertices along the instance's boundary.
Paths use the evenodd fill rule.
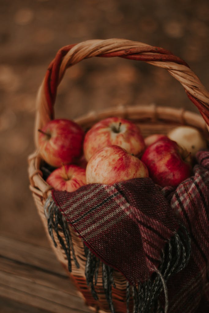
<path fill-rule="evenodd" d="M 127 313 L 129 313 L 129 299 L 132 288 L 133 313 L 166 313 L 168 311 L 168 295 L 166 281 L 172 274 L 183 269 L 190 258 L 191 241 L 186 228 L 181 225 L 178 233 L 167 242 L 162 255 L 162 264 L 159 269 L 153 269 L 154 273 L 143 284 L 138 283 L 138 290 L 135 286 L 127 284 Z M 159 295 L 164 291 L 164 308 L 159 303 Z"/>

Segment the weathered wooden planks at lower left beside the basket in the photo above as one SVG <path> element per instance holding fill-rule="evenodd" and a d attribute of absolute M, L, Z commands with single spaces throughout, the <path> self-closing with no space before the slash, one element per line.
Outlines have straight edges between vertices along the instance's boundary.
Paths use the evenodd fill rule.
<path fill-rule="evenodd" d="M 0 236 L 1 313 L 89 313 L 50 249 Z"/>

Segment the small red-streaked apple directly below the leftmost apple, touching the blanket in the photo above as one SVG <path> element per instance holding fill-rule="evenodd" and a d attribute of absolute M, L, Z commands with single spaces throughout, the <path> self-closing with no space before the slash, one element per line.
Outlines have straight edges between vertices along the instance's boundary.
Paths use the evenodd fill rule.
<path fill-rule="evenodd" d="M 63 165 L 56 168 L 46 182 L 55 190 L 72 192 L 86 185 L 86 171 L 74 164 Z"/>

